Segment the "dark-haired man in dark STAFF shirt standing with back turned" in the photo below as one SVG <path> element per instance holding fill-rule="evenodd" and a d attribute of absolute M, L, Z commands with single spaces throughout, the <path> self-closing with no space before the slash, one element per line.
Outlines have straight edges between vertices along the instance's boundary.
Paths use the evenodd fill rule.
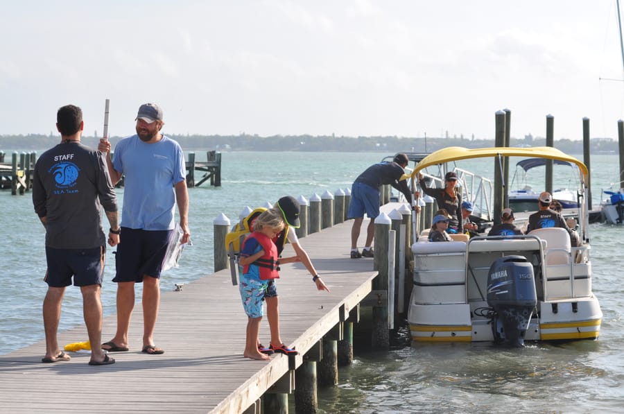
<path fill-rule="evenodd" d="M 89 343 L 89 365 L 115 362 L 98 346 L 102 334 L 101 290 L 106 253 L 102 229 L 104 209 L 110 231 L 108 244 L 119 243 L 117 198 L 106 163 L 95 148 L 80 142 L 83 111 L 76 105 L 61 107 L 56 115 L 61 142 L 37 159 L 33 175 L 33 205 L 46 229 L 45 282 L 43 302 L 46 333 L 44 363 L 69 361 L 58 346 L 58 322 L 65 288 L 80 286 Z"/>

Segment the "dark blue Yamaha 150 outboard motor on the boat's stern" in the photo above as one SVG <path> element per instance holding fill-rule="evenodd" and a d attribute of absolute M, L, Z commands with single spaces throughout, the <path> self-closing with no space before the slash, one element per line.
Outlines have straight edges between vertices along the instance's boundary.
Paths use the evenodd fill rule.
<path fill-rule="evenodd" d="M 523 347 L 537 306 L 533 266 L 526 257 L 505 256 L 494 261 L 487 275 L 487 304 L 494 309 L 494 340 Z"/>

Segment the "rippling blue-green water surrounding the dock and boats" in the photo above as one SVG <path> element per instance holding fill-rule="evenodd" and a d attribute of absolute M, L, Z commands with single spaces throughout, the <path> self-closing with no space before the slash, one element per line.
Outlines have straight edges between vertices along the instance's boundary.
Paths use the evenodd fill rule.
<path fill-rule="evenodd" d="M 284 195 L 322 195 L 347 189 L 367 166 L 387 153 L 223 153 L 222 187 L 189 189 L 191 240 L 179 268 L 162 277 L 162 289 L 191 282 L 213 270 L 213 221 L 236 221 L 245 206 Z M 202 153 L 198 160 L 205 159 Z M 471 164 L 491 173 L 488 162 Z M 593 205 L 618 179 L 618 159 L 591 159 Z M 533 183 L 534 189 L 541 184 Z M 555 184 L 556 185 L 556 184 Z M 118 190 L 120 200 L 123 190 Z M 41 304 L 46 292 L 44 228 L 31 194 L 0 191 L 0 354 L 44 339 Z M 339 371 L 338 386 L 320 389 L 322 413 L 609 413 L 624 402 L 624 227 L 590 226 L 593 291 L 604 313 L 600 339 L 530 344 L 508 350 L 489 344 L 411 345 L 399 329 L 390 352 L 356 353 Z M 302 240 L 305 245 L 305 241 Z M 345 250 L 349 241 L 345 239 Z M 103 285 L 105 316 L 115 312 L 112 250 Z M 313 258 L 312 258 L 313 259 Z M 137 295 L 140 297 L 140 293 Z M 83 323 L 78 288 L 69 287 L 60 329 Z M 42 350 L 43 352 L 44 350 Z"/>

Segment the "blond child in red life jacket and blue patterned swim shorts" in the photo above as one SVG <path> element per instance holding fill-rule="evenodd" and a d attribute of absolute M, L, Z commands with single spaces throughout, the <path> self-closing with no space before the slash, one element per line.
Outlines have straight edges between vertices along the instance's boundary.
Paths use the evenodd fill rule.
<path fill-rule="evenodd" d="M 239 264 L 243 272 L 239 280 L 239 290 L 243 308 L 248 316 L 247 339 L 243 356 L 266 361 L 269 348 L 260 345 L 259 331 L 263 313 L 263 300 L 267 293 L 275 292 L 275 279 L 279 277 L 279 264 L 299 261 L 297 256 L 279 258 L 277 246 L 272 241 L 284 230 L 284 217 L 277 209 L 268 209 L 254 221 L 252 232 L 241 248 Z"/>

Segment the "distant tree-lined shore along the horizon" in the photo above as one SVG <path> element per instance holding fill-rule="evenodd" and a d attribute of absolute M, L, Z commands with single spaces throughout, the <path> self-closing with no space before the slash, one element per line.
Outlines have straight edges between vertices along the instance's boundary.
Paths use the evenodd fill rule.
<path fill-rule="evenodd" d="M 494 139 L 467 139 L 464 137 L 335 137 L 333 135 L 168 135 L 180 143 L 184 150 L 245 150 L 245 151 L 365 151 L 431 152 L 447 146 L 483 148 L 494 146 Z M 111 137 L 114 146 L 122 137 Z M 0 135 L 0 150 L 43 150 L 58 144 L 60 137 L 53 135 Z M 83 136 L 83 142 L 97 146 L 97 137 Z M 512 146 L 543 146 L 544 138 L 527 135 L 511 139 Z M 569 154 L 582 154 L 582 141 L 555 140 L 555 148 Z M 618 143 L 610 138 L 590 140 L 591 153 L 617 153 Z"/>

